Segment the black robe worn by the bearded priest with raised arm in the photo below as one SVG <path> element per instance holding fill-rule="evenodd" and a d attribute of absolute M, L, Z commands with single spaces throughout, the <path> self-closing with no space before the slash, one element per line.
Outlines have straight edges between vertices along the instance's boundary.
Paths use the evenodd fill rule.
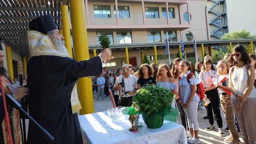
<path fill-rule="evenodd" d="M 71 92 L 78 78 L 100 75 L 101 71 L 99 56 L 80 62 L 52 55 L 32 56 L 29 59 L 26 86 L 30 89 L 28 112 L 55 138 L 52 143 L 82 143 L 78 116 L 71 110 Z M 29 122 L 28 144 L 51 143 L 47 139 L 34 123 Z"/>

